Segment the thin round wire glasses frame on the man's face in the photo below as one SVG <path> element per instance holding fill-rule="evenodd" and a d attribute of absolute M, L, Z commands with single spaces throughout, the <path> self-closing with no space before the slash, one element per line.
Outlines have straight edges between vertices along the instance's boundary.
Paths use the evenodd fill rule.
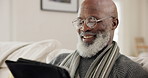
<path fill-rule="evenodd" d="M 88 17 L 88 18 L 91 18 L 91 17 L 94 17 L 94 16 L 90 16 L 90 17 Z M 104 18 L 101 18 L 101 19 L 97 19 L 96 17 L 94 17 L 94 18 L 97 19 L 97 20 L 94 20 L 96 23 L 95 23 L 93 26 L 88 26 L 88 23 L 86 22 L 88 18 L 82 19 L 82 20 L 81 20 L 81 21 L 84 21 L 83 24 L 81 24 L 81 25 L 79 25 L 79 26 L 78 26 L 78 25 L 75 25 L 74 23 L 76 23 L 79 18 L 80 18 L 80 17 L 78 17 L 78 18 L 76 18 L 74 21 L 72 21 L 73 26 L 76 27 L 77 29 L 83 27 L 84 23 L 86 24 L 87 27 L 89 27 L 89 28 L 94 28 L 98 22 L 101 22 L 101 21 L 103 21 L 103 20 L 105 20 L 105 19 L 108 19 L 108 18 L 112 18 L 112 16 L 104 17 Z"/>

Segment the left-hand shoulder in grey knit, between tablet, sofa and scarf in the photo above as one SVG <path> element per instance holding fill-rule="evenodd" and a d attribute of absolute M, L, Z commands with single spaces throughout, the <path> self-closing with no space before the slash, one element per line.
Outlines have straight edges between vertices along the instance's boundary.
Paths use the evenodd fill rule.
<path fill-rule="evenodd" d="M 64 60 L 64 58 L 66 58 L 66 56 L 69 54 L 70 53 L 62 53 L 58 55 L 57 57 L 55 57 L 50 63 L 53 65 L 59 65 Z"/>

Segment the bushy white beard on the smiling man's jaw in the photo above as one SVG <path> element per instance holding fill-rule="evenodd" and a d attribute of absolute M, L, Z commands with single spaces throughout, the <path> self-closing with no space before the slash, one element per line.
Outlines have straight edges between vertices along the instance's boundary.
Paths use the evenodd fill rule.
<path fill-rule="evenodd" d="M 97 34 L 97 38 L 94 42 L 88 45 L 84 43 L 79 36 L 77 44 L 78 53 L 82 57 L 92 57 L 107 45 L 109 39 L 110 33 L 106 31 L 101 34 Z"/>

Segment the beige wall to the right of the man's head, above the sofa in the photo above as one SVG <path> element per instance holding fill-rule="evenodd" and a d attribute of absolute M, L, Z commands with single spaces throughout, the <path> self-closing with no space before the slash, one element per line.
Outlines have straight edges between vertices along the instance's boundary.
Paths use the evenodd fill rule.
<path fill-rule="evenodd" d="M 121 0 L 122 26 L 119 32 L 119 43 L 121 41 L 122 52 L 126 55 L 136 55 L 135 38 L 144 37 L 148 41 L 146 21 L 148 20 L 147 0 Z"/>

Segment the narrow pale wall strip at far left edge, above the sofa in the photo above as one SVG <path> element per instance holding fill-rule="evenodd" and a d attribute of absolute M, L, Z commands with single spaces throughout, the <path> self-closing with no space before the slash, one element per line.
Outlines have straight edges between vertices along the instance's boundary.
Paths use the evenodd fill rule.
<path fill-rule="evenodd" d="M 10 40 L 10 1 L 0 0 L 0 41 Z"/>

